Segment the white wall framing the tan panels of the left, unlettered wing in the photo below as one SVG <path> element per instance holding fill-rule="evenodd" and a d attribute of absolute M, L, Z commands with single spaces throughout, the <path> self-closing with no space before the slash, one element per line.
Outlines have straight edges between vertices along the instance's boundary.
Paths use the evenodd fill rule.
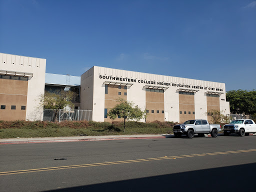
<path fill-rule="evenodd" d="M 26 120 L 41 119 L 43 106 L 39 95 L 44 93 L 46 59 L 0 53 L 0 70 L 33 73 L 28 80 Z"/>

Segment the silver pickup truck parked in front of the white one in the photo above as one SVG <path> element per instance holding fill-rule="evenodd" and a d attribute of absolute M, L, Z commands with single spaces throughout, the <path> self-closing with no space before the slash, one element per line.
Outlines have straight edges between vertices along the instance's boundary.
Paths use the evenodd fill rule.
<path fill-rule="evenodd" d="M 193 138 L 194 133 L 197 133 L 200 137 L 208 133 L 210 133 L 211 137 L 216 137 L 219 131 L 221 131 L 220 124 L 209 124 L 207 120 L 203 119 L 187 120 L 183 124 L 173 126 L 175 137 L 186 134 L 188 138 Z"/>

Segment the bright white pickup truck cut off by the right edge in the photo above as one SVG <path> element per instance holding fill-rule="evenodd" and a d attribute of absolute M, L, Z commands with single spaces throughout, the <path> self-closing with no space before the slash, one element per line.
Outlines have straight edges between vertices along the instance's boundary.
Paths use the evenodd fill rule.
<path fill-rule="evenodd" d="M 232 120 L 230 123 L 225 124 L 223 133 L 228 136 L 230 133 L 237 133 L 240 136 L 247 136 L 249 133 L 256 132 L 256 124 L 251 119 L 237 119 Z"/>

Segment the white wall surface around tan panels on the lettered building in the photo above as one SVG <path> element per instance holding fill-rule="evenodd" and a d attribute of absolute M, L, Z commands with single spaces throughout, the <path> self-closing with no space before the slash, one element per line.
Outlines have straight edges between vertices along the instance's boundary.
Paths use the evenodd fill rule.
<path fill-rule="evenodd" d="M 93 66 L 92 68 L 94 69 L 93 70 L 93 120 L 95 121 L 104 121 L 104 90 L 105 90 L 105 86 L 103 84 L 104 81 L 133 83 L 127 89 L 127 100 L 133 101 L 134 104 L 138 105 L 141 109 L 145 108 L 145 90 L 143 88 L 144 85 L 155 85 L 155 86 L 166 87 L 167 89 L 164 92 L 164 111 L 168 114 L 168 116 L 166 116 L 167 119 L 165 120 L 179 122 L 179 100 L 178 100 L 179 96 L 178 96 L 177 89 L 182 87 L 173 86 L 173 84 L 189 85 L 190 88 L 187 88 L 187 89 L 197 90 L 194 94 L 195 118 L 207 119 L 207 116 L 205 114 L 207 111 L 207 102 L 206 102 L 206 93 L 205 93 L 206 91 L 214 91 L 214 92 L 222 93 L 219 97 L 220 110 L 226 109 L 224 110 L 226 111 L 225 114 L 229 114 L 229 102 L 225 101 L 225 84 L 224 83 L 173 77 L 173 76 L 166 76 L 166 75 L 149 74 L 149 73 L 143 73 L 143 72 L 127 71 L 127 70 L 119 70 L 119 69 L 99 67 L 99 66 Z M 99 78 L 99 75 L 101 76 L 104 75 L 108 77 L 111 76 L 111 77 L 136 79 L 136 82 Z M 138 80 L 154 81 L 155 84 L 141 83 L 141 82 L 138 82 Z M 157 82 L 170 83 L 170 85 L 157 85 Z M 87 83 L 89 83 L 89 81 Z M 84 85 L 81 79 L 81 92 L 82 92 L 83 86 Z M 193 88 L 193 86 L 201 86 L 203 87 L 203 89 Z M 220 88 L 220 90 L 216 90 L 216 88 Z M 214 90 L 211 90 L 211 89 L 214 89 Z M 84 98 L 81 95 L 81 109 L 86 109 L 86 108 L 83 108 L 83 105 L 82 105 L 83 99 Z M 224 100 L 221 100 L 221 99 L 224 99 Z"/>

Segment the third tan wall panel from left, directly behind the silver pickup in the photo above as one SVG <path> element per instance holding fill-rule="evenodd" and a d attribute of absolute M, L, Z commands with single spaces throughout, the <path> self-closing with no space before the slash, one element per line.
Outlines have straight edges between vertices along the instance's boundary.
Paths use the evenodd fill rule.
<path fill-rule="evenodd" d="M 182 114 L 179 114 L 179 122 L 182 123 L 186 120 L 194 119 L 194 95 L 190 94 L 178 94 L 179 98 L 179 111 L 182 111 Z M 186 111 L 186 114 L 184 114 Z M 190 114 L 188 114 L 190 111 Z"/>

